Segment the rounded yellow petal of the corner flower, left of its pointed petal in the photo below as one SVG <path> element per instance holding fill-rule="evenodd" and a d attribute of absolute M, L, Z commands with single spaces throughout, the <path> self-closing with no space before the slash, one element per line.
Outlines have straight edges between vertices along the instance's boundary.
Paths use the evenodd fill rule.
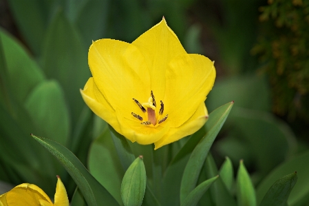
<path fill-rule="evenodd" d="M 39 200 L 45 200 L 52 206 L 52 201 L 43 190 L 32 184 L 23 183 L 14 187 L 6 195 L 8 205 L 36 206 Z"/>

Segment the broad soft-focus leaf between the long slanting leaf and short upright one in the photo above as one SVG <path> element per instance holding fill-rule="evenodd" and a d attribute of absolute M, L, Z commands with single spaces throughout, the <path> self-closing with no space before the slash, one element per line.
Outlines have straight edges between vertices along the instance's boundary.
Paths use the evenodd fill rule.
<path fill-rule="evenodd" d="M 122 205 L 120 186 L 125 170 L 120 164 L 109 128 L 93 141 L 88 156 L 90 173 Z"/>

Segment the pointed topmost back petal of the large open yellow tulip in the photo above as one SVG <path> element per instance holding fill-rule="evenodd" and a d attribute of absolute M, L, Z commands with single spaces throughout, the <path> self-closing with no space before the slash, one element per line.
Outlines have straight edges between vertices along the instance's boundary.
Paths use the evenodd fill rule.
<path fill-rule="evenodd" d="M 167 64 L 175 56 L 187 52 L 175 33 L 167 26 L 164 18 L 153 28 L 140 35 L 132 44 L 136 45 L 145 56 L 151 76 L 151 90 L 153 90 L 158 100 L 162 100 L 165 93 Z"/>

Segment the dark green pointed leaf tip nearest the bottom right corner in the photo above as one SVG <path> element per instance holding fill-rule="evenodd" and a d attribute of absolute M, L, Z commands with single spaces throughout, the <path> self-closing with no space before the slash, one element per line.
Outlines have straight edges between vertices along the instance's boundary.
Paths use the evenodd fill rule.
<path fill-rule="evenodd" d="M 264 196 L 259 206 L 285 206 L 288 196 L 297 182 L 297 172 L 279 178 Z"/>

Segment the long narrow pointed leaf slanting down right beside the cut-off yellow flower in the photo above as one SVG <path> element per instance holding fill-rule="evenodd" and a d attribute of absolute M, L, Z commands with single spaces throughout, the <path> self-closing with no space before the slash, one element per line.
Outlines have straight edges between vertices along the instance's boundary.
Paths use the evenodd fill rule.
<path fill-rule="evenodd" d="M 34 135 L 32 137 L 61 162 L 63 167 L 72 176 L 78 188 L 81 189 L 89 206 L 103 204 L 118 205 L 117 201 L 109 194 L 107 189 L 96 181 L 70 150 L 67 150 L 63 145 L 50 139 Z"/>

